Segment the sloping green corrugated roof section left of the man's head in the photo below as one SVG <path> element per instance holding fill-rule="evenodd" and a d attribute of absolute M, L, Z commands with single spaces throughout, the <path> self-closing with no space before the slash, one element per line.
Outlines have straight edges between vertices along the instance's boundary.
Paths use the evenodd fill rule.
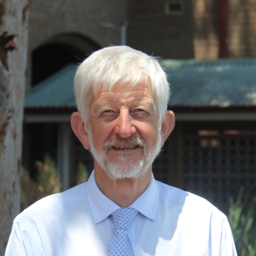
<path fill-rule="evenodd" d="M 70 64 L 26 92 L 25 108 L 76 108 L 73 80 L 76 64 Z"/>

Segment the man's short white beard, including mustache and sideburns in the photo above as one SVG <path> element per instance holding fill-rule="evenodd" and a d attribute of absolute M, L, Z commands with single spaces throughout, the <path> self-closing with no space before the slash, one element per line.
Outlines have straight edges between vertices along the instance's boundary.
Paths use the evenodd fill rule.
<path fill-rule="evenodd" d="M 115 138 L 113 140 L 106 140 L 103 144 L 103 152 L 98 152 L 92 140 L 91 130 L 88 129 L 89 140 L 90 140 L 90 152 L 94 159 L 98 162 L 101 168 L 108 174 L 111 179 L 124 179 L 124 178 L 138 178 L 145 174 L 148 168 L 152 165 L 155 158 L 159 155 L 161 151 L 161 130 L 158 132 L 158 138 L 156 145 L 147 149 L 147 144 L 144 139 L 140 136 L 135 135 L 130 139 L 119 139 Z M 108 157 L 108 149 L 115 146 L 120 147 L 123 144 L 129 142 L 132 145 L 138 145 L 142 148 L 142 157 L 139 161 L 135 162 L 133 156 L 117 156 L 115 161 L 112 162 L 110 157 Z M 124 166 L 123 161 L 129 162 Z"/>

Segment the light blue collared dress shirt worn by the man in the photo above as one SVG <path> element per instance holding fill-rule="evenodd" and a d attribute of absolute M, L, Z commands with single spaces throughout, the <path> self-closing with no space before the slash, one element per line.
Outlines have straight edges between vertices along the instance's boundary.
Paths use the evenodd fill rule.
<path fill-rule="evenodd" d="M 225 215 L 205 199 L 152 179 L 130 206 L 135 256 L 237 256 Z M 120 207 L 89 181 L 39 200 L 14 222 L 6 256 L 108 256 Z"/>

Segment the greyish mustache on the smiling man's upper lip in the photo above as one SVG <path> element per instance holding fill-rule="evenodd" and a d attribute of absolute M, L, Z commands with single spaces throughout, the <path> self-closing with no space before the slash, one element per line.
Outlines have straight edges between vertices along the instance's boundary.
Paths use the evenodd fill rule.
<path fill-rule="evenodd" d="M 135 146 L 140 146 L 143 148 L 145 148 L 147 145 L 146 141 L 142 139 L 139 135 L 134 135 L 129 139 L 121 139 L 118 137 L 114 137 L 113 139 L 108 139 L 104 142 L 103 148 L 106 151 L 111 147 L 122 147 L 127 143 Z"/>

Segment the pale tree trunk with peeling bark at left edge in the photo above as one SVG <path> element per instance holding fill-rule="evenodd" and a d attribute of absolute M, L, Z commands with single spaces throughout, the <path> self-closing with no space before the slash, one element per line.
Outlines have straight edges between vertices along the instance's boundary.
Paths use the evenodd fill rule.
<path fill-rule="evenodd" d="M 0 255 L 19 213 L 28 7 L 28 0 L 0 0 Z"/>

